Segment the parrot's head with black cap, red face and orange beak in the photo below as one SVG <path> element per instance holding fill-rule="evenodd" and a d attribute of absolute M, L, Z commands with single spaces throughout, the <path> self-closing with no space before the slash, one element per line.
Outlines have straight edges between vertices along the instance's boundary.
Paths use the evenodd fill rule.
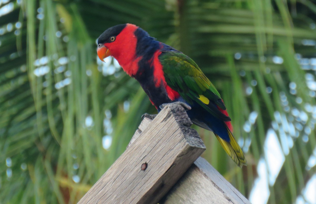
<path fill-rule="evenodd" d="M 104 62 L 104 58 L 113 56 L 118 61 L 120 58 L 131 59 L 134 57 L 137 44 L 135 30 L 138 27 L 133 24 L 121 24 L 104 31 L 97 40 L 98 57 Z"/>

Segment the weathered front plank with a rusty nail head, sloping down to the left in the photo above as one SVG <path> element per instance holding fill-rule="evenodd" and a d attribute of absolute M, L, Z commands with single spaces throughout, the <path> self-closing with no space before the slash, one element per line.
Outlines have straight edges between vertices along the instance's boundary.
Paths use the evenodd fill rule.
<path fill-rule="evenodd" d="M 191 124 L 167 105 L 78 203 L 157 203 L 205 150 Z"/>

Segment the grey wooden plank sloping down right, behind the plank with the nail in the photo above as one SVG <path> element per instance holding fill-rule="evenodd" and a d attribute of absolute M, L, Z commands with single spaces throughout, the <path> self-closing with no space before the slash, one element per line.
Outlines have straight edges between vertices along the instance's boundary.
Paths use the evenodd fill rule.
<path fill-rule="evenodd" d="M 205 159 L 199 157 L 159 204 L 250 202 Z"/>

